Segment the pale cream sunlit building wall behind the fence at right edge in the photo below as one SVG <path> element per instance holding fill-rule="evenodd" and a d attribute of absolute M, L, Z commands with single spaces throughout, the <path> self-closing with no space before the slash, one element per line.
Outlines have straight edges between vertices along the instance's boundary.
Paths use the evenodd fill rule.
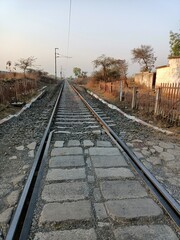
<path fill-rule="evenodd" d="M 169 58 L 168 66 L 156 69 L 156 86 L 161 83 L 180 83 L 180 57 Z"/>

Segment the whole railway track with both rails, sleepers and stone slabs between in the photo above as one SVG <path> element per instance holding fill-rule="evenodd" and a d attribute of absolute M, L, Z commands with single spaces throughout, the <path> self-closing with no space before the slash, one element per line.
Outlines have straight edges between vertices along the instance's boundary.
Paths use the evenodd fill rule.
<path fill-rule="evenodd" d="M 7 240 L 178 239 L 179 204 L 113 125 L 67 82 L 61 86 Z"/>

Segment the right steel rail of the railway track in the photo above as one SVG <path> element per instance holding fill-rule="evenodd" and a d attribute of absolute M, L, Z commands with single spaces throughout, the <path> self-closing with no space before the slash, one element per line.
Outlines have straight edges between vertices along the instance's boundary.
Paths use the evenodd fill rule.
<path fill-rule="evenodd" d="M 133 167 L 146 181 L 150 189 L 154 192 L 158 200 L 161 202 L 163 208 L 167 211 L 170 217 L 174 220 L 177 226 L 180 226 L 180 204 L 167 192 L 167 190 L 157 181 L 157 179 L 151 174 L 151 172 L 141 163 L 134 152 L 126 145 L 126 143 L 106 124 L 106 122 L 94 111 L 89 103 L 82 97 L 77 89 L 71 86 L 77 95 L 81 98 L 84 104 L 88 107 L 95 118 L 101 123 L 103 128 L 112 138 L 118 143 L 118 145 L 125 151 L 130 158 Z"/>

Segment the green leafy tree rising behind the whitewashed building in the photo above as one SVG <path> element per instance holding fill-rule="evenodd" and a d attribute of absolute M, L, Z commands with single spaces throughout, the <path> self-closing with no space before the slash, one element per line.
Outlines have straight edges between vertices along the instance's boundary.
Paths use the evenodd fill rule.
<path fill-rule="evenodd" d="M 180 56 L 180 33 L 170 31 L 170 57 Z"/>

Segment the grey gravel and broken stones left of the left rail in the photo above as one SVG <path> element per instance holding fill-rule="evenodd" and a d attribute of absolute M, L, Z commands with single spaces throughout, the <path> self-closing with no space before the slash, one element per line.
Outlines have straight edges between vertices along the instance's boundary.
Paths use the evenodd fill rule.
<path fill-rule="evenodd" d="M 46 85 L 41 98 L 19 116 L 0 124 L 0 239 L 7 230 L 58 94 L 57 85 Z"/>

